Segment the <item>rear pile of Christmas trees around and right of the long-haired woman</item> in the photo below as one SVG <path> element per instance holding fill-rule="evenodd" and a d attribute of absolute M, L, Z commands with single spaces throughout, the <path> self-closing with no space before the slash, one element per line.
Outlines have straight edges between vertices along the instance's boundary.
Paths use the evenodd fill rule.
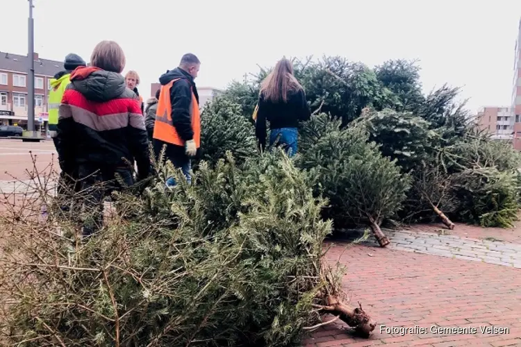
<path fill-rule="evenodd" d="M 518 220 L 520 154 L 477 129 L 443 85 L 422 94 L 416 62 L 371 69 L 340 57 L 294 60 L 308 103 L 318 114 L 299 129 L 295 164 L 318 177 L 334 228 L 370 226 L 382 246 L 384 221 L 455 221 L 511 227 Z M 234 82 L 222 96 L 251 121 L 260 83 Z"/>

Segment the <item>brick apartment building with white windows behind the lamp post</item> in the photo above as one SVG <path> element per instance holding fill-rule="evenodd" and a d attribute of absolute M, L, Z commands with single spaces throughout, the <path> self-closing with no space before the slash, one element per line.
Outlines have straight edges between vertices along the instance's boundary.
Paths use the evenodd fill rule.
<path fill-rule="evenodd" d="M 50 81 L 63 70 L 63 62 L 40 59 L 34 53 L 35 126 L 47 123 L 47 99 Z M 27 56 L 0 51 L 0 125 L 17 124 L 26 128 L 28 115 Z"/>

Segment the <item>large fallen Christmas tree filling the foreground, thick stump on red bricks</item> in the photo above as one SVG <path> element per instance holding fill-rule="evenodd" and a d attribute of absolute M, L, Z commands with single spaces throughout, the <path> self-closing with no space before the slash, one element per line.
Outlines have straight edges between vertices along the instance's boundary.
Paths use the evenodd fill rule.
<path fill-rule="evenodd" d="M 324 259 L 326 201 L 286 155 L 201 162 L 192 185 L 175 174 L 172 190 L 160 177 L 115 196 L 120 214 L 86 244 L 52 214 L 3 221 L 9 344 L 291 346 L 326 313 L 372 332 Z"/>

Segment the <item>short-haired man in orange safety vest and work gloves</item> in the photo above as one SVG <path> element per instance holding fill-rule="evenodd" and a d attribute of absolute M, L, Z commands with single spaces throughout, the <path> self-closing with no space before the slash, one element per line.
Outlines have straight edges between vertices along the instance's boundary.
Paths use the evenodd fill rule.
<path fill-rule="evenodd" d="M 156 157 L 166 146 L 166 159 L 183 171 L 188 183 L 191 183 L 190 158 L 201 145 L 199 94 L 194 82 L 200 66 L 197 56 L 187 53 L 179 67 L 160 76 L 161 90 L 152 135 Z M 174 178 L 167 179 L 167 186 L 175 184 Z"/>

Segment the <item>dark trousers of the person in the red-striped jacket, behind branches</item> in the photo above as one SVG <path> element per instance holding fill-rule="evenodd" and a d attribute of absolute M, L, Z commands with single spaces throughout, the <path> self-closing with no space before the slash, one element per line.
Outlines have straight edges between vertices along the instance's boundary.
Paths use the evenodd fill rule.
<path fill-rule="evenodd" d="M 104 223 L 104 198 L 114 191 L 121 191 L 134 183 L 128 167 L 94 167 L 80 165 L 78 177 L 81 184 L 81 211 L 83 237 L 99 231 Z M 120 180 L 121 183 L 118 181 Z"/>

